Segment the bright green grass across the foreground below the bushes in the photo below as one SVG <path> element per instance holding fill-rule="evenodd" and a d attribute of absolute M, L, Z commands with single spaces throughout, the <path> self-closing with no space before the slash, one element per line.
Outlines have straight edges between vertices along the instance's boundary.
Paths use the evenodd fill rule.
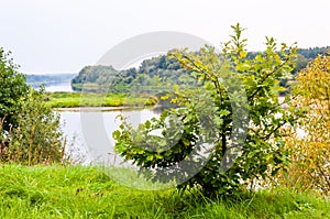
<path fill-rule="evenodd" d="M 285 188 L 210 201 L 197 193 L 142 191 L 96 167 L 3 165 L 0 218 L 330 218 L 329 201 Z"/>

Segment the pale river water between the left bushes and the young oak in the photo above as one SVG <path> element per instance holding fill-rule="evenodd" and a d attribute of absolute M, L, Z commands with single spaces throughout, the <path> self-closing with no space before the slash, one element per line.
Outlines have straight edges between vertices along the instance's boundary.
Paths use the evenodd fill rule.
<path fill-rule="evenodd" d="M 151 109 L 107 112 L 59 112 L 61 125 L 66 138 L 66 154 L 74 162 L 81 164 L 120 164 L 122 160 L 113 152 L 112 132 L 120 121 L 117 116 L 123 114 L 134 128 L 160 112 Z"/>

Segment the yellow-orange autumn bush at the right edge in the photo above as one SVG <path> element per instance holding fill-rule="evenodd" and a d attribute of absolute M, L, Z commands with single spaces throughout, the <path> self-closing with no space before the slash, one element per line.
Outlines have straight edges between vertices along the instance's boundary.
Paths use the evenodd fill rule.
<path fill-rule="evenodd" d="M 297 75 L 294 105 L 306 110 L 298 129 L 287 138 L 293 164 L 286 180 L 290 186 L 330 193 L 330 55 L 319 55 Z M 296 128 L 297 129 L 297 128 Z M 296 130 L 293 130 L 296 132 Z"/>

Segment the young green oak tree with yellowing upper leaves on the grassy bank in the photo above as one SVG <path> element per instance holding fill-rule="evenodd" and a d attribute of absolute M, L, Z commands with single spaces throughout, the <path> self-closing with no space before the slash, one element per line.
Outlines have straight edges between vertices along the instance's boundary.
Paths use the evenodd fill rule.
<path fill-rule="evenodd" d="M 282 129 L 295 116 L 278 102 L 279 79 L 290 74 L 296 46 L 266 37 L 266 50 L 246 58 L 243 30 L 222 53 L 207 46 L 199 53 L 173 55 L 200 86 L 174 86 L 173 102 L 134 130 L 123 119 L 113 132 L 116 150 L 155 180 L 175 179 L 179 189 L 198 186 L 208 195 L 239 191 L 242 182 L 275 175 L 288 164 Z M 248 114 L 249 113 L 249 114 Z M 155 134 L 158 131 L 160 134 Z"/>

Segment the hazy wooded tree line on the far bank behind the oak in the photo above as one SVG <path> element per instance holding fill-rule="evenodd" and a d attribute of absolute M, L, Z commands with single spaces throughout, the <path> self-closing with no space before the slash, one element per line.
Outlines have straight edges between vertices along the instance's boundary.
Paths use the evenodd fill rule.
<path fill-rule="evenodd" d="M 324 54 L 330 46 L 299 48 L 296 67 L 292 72 L 304 69 L 317 55 Z M 249 52 L 248 59 L 254 58 L 260 52 Z M 160 55 L 142 62 L 139 68 L 117 70 L 112 66 L 86 66 L 72 80 L 76 91 L 92 92 L 160 92 L 167 90 L 170 85 L 194 86 L 196 81 L 189 77 L 190 70 L 184 68 L 177 59 Z M 288 80 L 282 80 L 283 87 L 288 87 Z"/>

